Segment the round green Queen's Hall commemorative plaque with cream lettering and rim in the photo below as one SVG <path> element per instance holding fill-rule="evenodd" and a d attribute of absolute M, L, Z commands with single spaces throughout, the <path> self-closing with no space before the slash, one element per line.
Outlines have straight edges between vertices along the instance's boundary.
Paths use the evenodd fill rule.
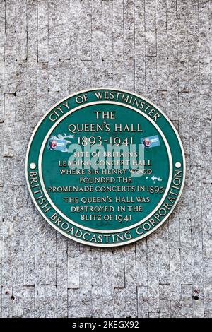
<path fill-rule="evenodd" d="M 184 151 L 165 114 L 115 89 L 78 92 L 37 124 L 26 179 L 38 211 L 61 234 L 115 247 L 165 222 L 182 193 Z"/>

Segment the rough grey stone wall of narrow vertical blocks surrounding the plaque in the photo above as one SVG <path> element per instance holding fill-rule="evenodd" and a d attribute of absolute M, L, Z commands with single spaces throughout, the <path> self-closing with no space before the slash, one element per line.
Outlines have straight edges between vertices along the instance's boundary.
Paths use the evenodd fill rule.
<path fill-rule="evenodd" d="M 0 0 L 2 317 L 212 316 L 211 28 L 208 0 Z M 53 230 L 24 175 L 48 107 L 99 86 L 161 107 L 187 159 L 168 222 L 116 249 Z"/>

